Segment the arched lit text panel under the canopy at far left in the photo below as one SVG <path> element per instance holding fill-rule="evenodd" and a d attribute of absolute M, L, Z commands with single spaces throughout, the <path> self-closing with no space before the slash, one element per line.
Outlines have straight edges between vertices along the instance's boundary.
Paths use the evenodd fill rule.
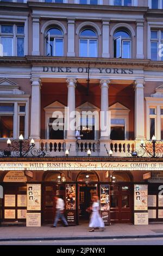
<path fill-rule="evenodd" d="M 22 170 L 12 170 L 5 174 L 3 182 L 27 182 L 27 177 Z"/>

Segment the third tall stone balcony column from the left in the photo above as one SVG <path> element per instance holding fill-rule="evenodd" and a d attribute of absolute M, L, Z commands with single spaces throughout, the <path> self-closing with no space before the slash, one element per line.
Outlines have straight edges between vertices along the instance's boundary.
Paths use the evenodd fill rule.
<path fill-rule="evenodd" d="M 110 118 L 109 118 L 109 89 L 110 80 L 102 79 L 101 84 L 101 113 L 100 113 L 100 139 L 110 139 Z M 104 128 L 105 127 L 105 128 Z"/>

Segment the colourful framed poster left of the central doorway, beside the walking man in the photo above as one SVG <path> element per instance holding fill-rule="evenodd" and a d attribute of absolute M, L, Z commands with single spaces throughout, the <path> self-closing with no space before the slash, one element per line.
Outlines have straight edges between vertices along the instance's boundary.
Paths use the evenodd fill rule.
<path fill-rule="evenodd" d="M 76 210 L 75 184 L 66 184 L 66 210 Z"/>

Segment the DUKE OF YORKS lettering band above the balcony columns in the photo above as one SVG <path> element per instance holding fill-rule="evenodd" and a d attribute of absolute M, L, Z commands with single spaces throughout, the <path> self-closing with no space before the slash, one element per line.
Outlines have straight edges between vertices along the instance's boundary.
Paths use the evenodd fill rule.
<path fill-rule="evenodd" d="M 43 66 L 43 72 L 53 73 L 88 73 L 89 68 L 71 67 L 71 66 Z M 98 74 L 134 74 L 133 69 L 117 69 L 117 68 L 90 68 L 90 73 Z"/>

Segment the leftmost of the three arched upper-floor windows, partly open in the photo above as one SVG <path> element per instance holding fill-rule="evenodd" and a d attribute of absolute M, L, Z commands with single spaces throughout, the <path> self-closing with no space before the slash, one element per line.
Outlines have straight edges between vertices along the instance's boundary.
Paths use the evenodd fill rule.
<path fill-rule="evenodd" d="M 64 35 L 59 28 L 50 28 L 45 34 L 46 56 L 64 56 Z"/>

